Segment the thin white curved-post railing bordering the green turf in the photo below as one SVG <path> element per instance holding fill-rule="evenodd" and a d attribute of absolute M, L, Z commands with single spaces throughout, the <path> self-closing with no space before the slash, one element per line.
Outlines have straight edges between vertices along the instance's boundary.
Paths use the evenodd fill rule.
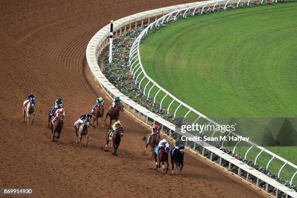
<path fill-rule="evenodd" d="M 165 90 L 164 88 L 162 88 L 157 82 L 155 82 L 154 80 L 152 80 L 146 73 L 146 71 L 144 70 L 143 68 L 143 65 L 141 63 L 141 57 L 140 57 L 140 53 L 139 53 L 139 45 L 140 45 L 140 41 L 141 41 L 141 38 L 146 35 L 148 33 L 149 30 L 151 30 L 153 27 L 158 27 L 159 24 L 163 24 L 165 21 L 168 21 L 170 18 L 173 18 L 173 20 L 176 20 L 176 17 L 178 14 L 180 14 L 181 12 L 183 12 L 183 15 L 182 17 L 186 17 L 186 14 L 187 13 L 190 13 L 191 10 L 192 11 L 192 15 L 195 15 L 195 13 L 199 13 L 199 14 L 202 14 L 203 11 L 205 11 L 205 7 L 208 6 L 208 10 L 212 8 L 212 10 L 214 11 L 215 9 L 215 6 L 220 6 L 220 5 L 223 5 L 224 6 L 224 9 L 227 8 L 227 5 L 229 3 L 236 3 L 236 5 L 238 6 L 239 5 L 239 2 L 247 2 L 247 4 L 250 3 L 250 0 L 238 0 L 237 2 L 233 1 L 231 2 L 231 0 L 215 0 L 215 1 L 207 1 L 205 3 L 201 3 L 199 5 L 194 5 L 194 6 L 191 6 L 191 7 L 188 7 L 188 8 L 184 8 L 184 9 L 180 9 L 180 10 L 176 10 L 176 11 L 173 11 L 173 12 L 170 12 L 162 17 L 160 17 L 159 19 L 157 19 L 156 21 L 152 22 L 151 24 L 148 25 L 147 28 L 145 28 L 140 34 L 139 36 L 135 39 L 135 41 L 133 42 L 132 44 L 132 47 L 131 47 L 131 50 L 130 50 L 130 58 L 129 58 L 129 66 L 130 67 L 130 71 L 132 72 L 133 74 L 133 78 L 135 79 L 135 84 L 138 82 L 138 78 L 140 75 L 143 75 L 143 77 L 141 78 L 140 82 L 138 82 L 138 87 L 140 88 L 141 87 L 141 83 L 144 81 L 144 79 L 146 78 L 148 80 L 148 82 L 145 84 L 145 87 L 144 87 L 144 94 L 146 95 L 146 90 L 147 90 L 147 87 L 148 87 L 148 84 L 151 84 L 151 87 L 148 91 L 148 94 L 146 95 L 147 98 L 149 98 L 149 94 L 152 90 L 153 87 L 156 87 L 158 89 L 158 92 L 155 94 L 155 96 L 150 96 L 151 98 L 154 99 L 154 102 L 155 102 L 155 99 L 157 97 L 157 95 L 162 91 L 165 93 L 165 96 L 164 98 L 161 100 L 161 103 L 160 103 L 160 109 L 162 108 L 162 103 L 164 101 L 165 98 L 168 98 L 170 97 L 171 98 L 171 102 L 169 103 L 169 106 L 167 107 L 167 114 L 169 114 L 169 109 L 172 105 L 173 102 L 178 102 L 179 105 L 178 107 L 175 109 L 175 111 L 172 112 L 172 115 L 173 117 L 175 118 L 176 117 L 176 114 L 177 114 L 177 111 L 178 109 L 183 106 L 185 107 L 188 111 L 187 113 L 184 115 L 183 117 L 183 122 L 185 121 L 185 118 L 186 116 L 190 113 L 190 112 L 193 112 L 197 115 L 197 119 L 195 120 L 194 124 L 199 120 L 199 119 L 205 119 L 205 121 L 208 122 L 208 125 L 210 124 L 213 124 L 213 125 L 218 125 L 218 123 L 216 123 L 214 120 L 208 118 L 207 116 L 201 114 L 200 112 L 198 112 L 197 110 L 195 110 L 194 108 L 190 107 L 189 105 L 185 104 L 184 102 L 182 102 L 180 99 L 176 98 L 175 96 L 173 96 L 171 93 L 169 93 L 167 90 Z M 263 3 L 263 1 L 261 1 L 261 3 Z M 201 8 L 201 9 L 200 9 Z M 141 69 L 141 70 L 140 70 Z M 138 72 L 138 73 L 137 73 Z M 136 75 L 137 73 L 137 75 Z M 234 136 L 239 136 L 237 133 L 235 132 L 231 132 L 231 131 L 227 131 L 229 132 L 229 135 L 234 135 Z M 215 132 L 214 132 L 215 133 Z M 214 133 L 212 135 L 214 135 Z M 238 141 L 235 145 L 235 147 L 233 148 L 233 152 L 235 152 L 235 148 L 236 146 L 240 143 L 240 141 Z M 248 141 L 248 143 L 250 144 L 250 148 L 247 149 L 247 152 L 245 153 L 245 159 L 247 158 L 247 154 L 248 152 L 250 151 L 251 148 L 253 147 L 257 147 L 260 149 L 260 152 L 257 154 L 256 158 L 255 158 L 255 164 L 257 162 L 257 159 L 258 157 L 261 155 L 261 153 L 265 152 L 265 153 L 268 153 L 269 155 L 271 155 L 271 159 L 269 160 L 269 162 L 267 163 L 266 165 L 266 168 L 268 168 L 269 164 L 272 162 L 272 160 L 274 158 L 277 158 L 279 160 L 281 160 L 284 164 L 281 166 L 281 168 L 279 169 L 279 172 L 278 172 L 278 176 L 280 177 L 281 175 L 281 170 L 283 169 L 283 167 L 285 165 L 290 165 L 292 167 L 294 167 L 296 170 L 297 170 L 297 165 L 285 160 L 284 158 L 282 158 L 281 156 L 278 156 L 276 155 L 275 153 L 267 150 L 266 148 L 263 148 L 257 144 L 255 144 L 254 142 L 251 142 L 251 141 Z M 224 141 L 222 142 L 222 146 L 224 145 Z M 293 179 L 296 175 L 297 171 L 295 172 L 295 174 L 292 175 L 291 177 L 291 180 L 290 180 L 290 183 L 292 184 L 293 182 Z"/>

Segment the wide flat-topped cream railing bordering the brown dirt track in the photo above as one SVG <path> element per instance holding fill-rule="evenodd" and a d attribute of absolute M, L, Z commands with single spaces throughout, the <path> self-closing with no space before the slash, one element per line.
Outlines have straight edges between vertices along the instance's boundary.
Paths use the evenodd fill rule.
<path fill-rule="evenodd" d="M 201 3 L 208 2 L 211 4 L 211 2 L 215 1 L 202 1 L 202 2 L 196 2 L 196 3 L 188 3 L 188 4 L 181 4 L 176 6 L 170 6 L 155 10 L 150 10 L 142 13 L 138 13 L 132 16 L 127 16 L 121 19 L 118 19 L 114 21 L 114 34 L 115 38 L 117 35 L 122 35 L 123 33 L 126 33 L 126 31 L 131 30 L 132 27 L 137 27 L 137 25 L 143 25 L 144 21 L 147 21 L 147 23 L 152 20 L 157 20 L 158 16 L 166 15 L 167 13 L 170 13 L 172 11 L 177 10 L 183 10 L 197 5 L 201 5 Z M 219 4 L 217 4 L 219 5 Z M 225 4 L 227 5 L 227 3 Z M 188 10 L 188 11 L 189 11 Z M 176 15 L 177 16 L 177 15 Z M 128 30 L 127 30 L 128 29 Z M 102 55 L 103 49 L 108 46 L 109 44 L 109 32 L 110 32 L 110 26 L 106 25 L 103 27 L 99 32 L 97 32 L 90 42 L 88 43 L 87 49 L 86 49 L 86 59 L 89 65 L 89 68 L 91 69 L 93 75 L 98 80 L 102 88 L 106 91 L 107 94 L 109 94 L 111 97 L 120 96 L 124 106 L 125 111 L 131 113 L 132 115 L 136 116 L 139 120 L 143 121 L 144 123 L 149 123 L 148 119 L 153 120 L 151 125 L 154 125 L 156 122 L 158 122 L 162 126 L 162 130 L 164 126 L 168 128 L 171 131 L 176 131 L 175 125 L 168 122 L 167 120 L 163 119 L 162 117 L 148 111 L 146 108 L 140 106 L 136 102 L 134 102 L 132 99 L 126 97 L 124 94 L 122 94 L 119 90 L 115 88 L 113 84 L 111 84 L 104 74 L 101 72 L 99 68 L 99 57 Z M 137 53 L 139 54 L 139 51 L 137 50 Z M 187 135 L 189 137 L 193 136 L 190 133 L 180 133 L 179 135 Z M 203 147 L 202 154 L 204 155 L 204 151 L 209 150 L 211 152 L 211 160 L 213 154 L 216 154 L 219 156 L 219 164 L 221 165 L 222 159 L 229 162 L 229 169 L 231 165 L 235 165 L 238 167 L 238 174 L 241 174 L 241 171 L 244 170 L 247 172 L 247 180 L 249 179 L 249 175 L 253 175 L 257 178 L 257 186 L 259 184 L 259 180 L 262 180 L 266 183 L 266 191 L 268 191 L 268 186 L 271 185 L 277 189 L 277 194 L 279 191 L 286 194 L 286 196 L 290 197 L 297 197 L 297 193 L 286 186 L 282 185 L 281 183 L 269 178 L 268 176 L 264 175 L 263 173 L 259 172 L 258 170 L 242 163 L 241 161 L 235 159 L 231 155 L 223 152 L 222 150 L 212 147 L 211 145 L 207 143 L 201 143 L 200 141 L 194 141 L 194 150 L 195 146 L 200 145 Z"/>

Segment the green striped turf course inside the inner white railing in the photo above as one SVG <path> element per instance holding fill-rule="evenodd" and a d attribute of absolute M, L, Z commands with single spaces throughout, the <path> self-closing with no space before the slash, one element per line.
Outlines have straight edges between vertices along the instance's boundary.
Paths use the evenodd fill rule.
<path fill-rule="evenodd" d="M 148 76 L 208 117 L 297 117 L 296 33 L 297 2 L 235 9 L 149 33 L 140 55 Z M 160 92 L 157 102 L 163 96 Z M 163 107 L 170 102 L 166 98 Z M 177 115 L 186 112 L 180 108 Z M 268 149 L 297 164 L 297 147 Z M 259 164 L 267 163 L 268 156 L 263 158 Z M 281 165 L 269 169 L 277 172 Z M 289 179 L 294 170 L 285 168 L 282 177 Z"/>

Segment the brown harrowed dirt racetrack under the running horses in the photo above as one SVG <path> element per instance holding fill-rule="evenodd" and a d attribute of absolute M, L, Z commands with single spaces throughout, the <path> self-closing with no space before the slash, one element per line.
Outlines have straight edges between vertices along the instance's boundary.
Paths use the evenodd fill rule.
<path fill-rule="evenodd" d="M 189 153 L 179 175 L 153 170 L 154 162 L 150 153 L 143 155 L 141 142 L 149 129 L 126 114 L 120 115 L 125 134 L 119 156 L 102 149 L 107 127 L 90 128 L 88 147 L 75 143 L 74 121 L 89 112 L 99 96 L 105 99 L 105 109 L 111 103 L 87 69 L 90 38 L 111 19 L 185 2 L 189 1 L 1 1 L 0 188 L 32 188 L 40 198 L 267 197 Z M 36 99 L 36 117 L 27 125 L 22 123 L 21 107 L 30 92 Z M 63 99 L 66 121 L 61 140 L 53 143 L 46 120 L 57 96 Z"/>

